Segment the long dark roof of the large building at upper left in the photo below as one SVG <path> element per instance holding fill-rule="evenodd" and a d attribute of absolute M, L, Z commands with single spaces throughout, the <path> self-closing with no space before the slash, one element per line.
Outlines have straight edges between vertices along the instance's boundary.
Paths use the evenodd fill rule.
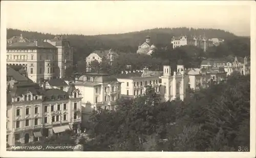
<path fill-rule="evenodd" d="M 27 42 L 10 43 L 10 44 L 7 44 L 7 48 L 56 48 L 56 47 L 48 42 L 38 40 L 34 42 L 27 41 Z"/>

